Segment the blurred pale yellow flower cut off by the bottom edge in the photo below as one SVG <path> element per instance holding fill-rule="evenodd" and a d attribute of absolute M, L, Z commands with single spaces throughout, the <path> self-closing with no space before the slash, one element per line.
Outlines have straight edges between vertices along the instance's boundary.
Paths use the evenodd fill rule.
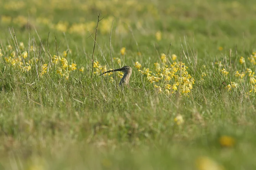
<path fill-rule="evenodd" d="M 224 168 L 208 157 L 199 157 L 196 160 L 198 170 L 224 170 Z"/>

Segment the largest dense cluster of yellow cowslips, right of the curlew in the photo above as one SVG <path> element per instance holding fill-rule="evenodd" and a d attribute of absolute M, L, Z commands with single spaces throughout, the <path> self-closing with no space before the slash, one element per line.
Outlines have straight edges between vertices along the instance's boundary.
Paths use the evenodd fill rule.
<path fill-rule="evenodd" d="M 166 57 L 165 55 L 162 56 Z M 190 90 L 193 88 L 192 85 L 194 85 L 195 80 L 187 72 L 188 67 L 185 66 L 184 63 L 181 63 L 180 65 L 180 62 L 174 62 L 170 66 L 154 63 L 155 72 L 150 71 L 149 68 L 143 68 L 142 70 L 140 70 L 140 67 L 141 64 L 137 61 L 135 63 L 135 68 L 137 68 L 142 75 L 146 76 L 146 80 L 149 83 L 159 82 L 161 84 L 161 87 L 154 84 L 154 87 L 157 88 L 157 92 L 159 93 L 162 92 L 162 88 L 164 88 L 164 92 L 166 92 L 167 94 L 175 93 L 178 91 L 178 89 L 180 89 L 179 92 L 186 95 L 190 93 Z"/>

